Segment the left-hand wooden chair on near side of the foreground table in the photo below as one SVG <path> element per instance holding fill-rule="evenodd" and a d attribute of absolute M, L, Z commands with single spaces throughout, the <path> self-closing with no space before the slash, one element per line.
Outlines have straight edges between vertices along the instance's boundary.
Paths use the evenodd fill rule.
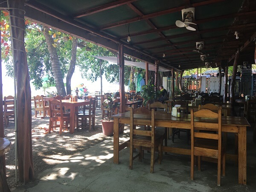
<path fill-rule="evenodd" d="M 144 148 L 151 150 L 151 163 L 150 172 L 154 171 L 154 163 L 158 159 L 158 163 L 161 163 L 161 135 L 156 134 L 154 125 L 154 110 L 151 111 L 151 119 L 146 120 L 141 125 L 151 125 L 151 131 L 138 130 L 135 125 L 140 125 L 139 122 L 135 124 L 134 122 L 134 111 L 131 108 L 131 122 L 130 122 L 130 165 L 129 168 L 132 169 L 133 160 L 139 157 L 141 161 Z M 134 148 L 139 147 L 139 153 L 134 156 Z M 155 149 L 158 148 L 158 157 L 154 158 Z"/>

